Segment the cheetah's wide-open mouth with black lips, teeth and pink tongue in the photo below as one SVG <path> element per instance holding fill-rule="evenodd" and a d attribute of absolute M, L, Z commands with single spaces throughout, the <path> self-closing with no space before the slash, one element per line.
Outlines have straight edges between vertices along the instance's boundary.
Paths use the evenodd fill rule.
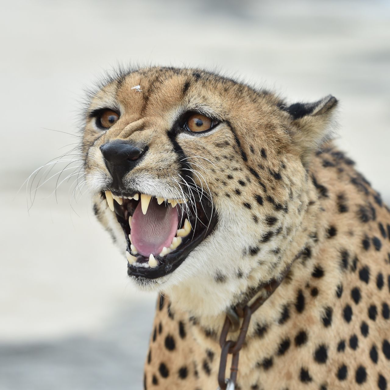
<path fill-rule="evenodd" d="M 207 200 L 164 199 L 140 193 L 104 191 L 124 231 L 128 275 L 155 279 L 174 271 L 215 228 Z"/>

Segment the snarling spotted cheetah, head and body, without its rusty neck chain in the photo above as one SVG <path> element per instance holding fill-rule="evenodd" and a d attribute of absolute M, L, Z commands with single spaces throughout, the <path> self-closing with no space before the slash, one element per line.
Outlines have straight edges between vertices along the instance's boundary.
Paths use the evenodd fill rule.
<path fill-rule="evenodd" d="M 390 210 L 332 140 L 337 103 L 173 67 L 89 94 L 94 213 L 129 278 L 158 292 L 145 389 L 218 388 L 226 314 L 271 280 L 236 389 L 390 388 Z"/>

